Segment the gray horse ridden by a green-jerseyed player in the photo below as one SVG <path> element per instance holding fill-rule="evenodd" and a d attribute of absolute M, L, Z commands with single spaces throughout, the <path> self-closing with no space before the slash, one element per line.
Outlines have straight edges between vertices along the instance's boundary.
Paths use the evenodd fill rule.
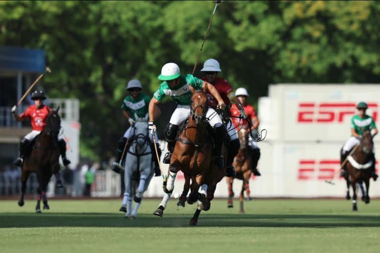
<path fill-rule="evenodd" d="M 135 115 L 135 119 L 137 120 L 133 124 L 132 136 L 130 136 L 130 144 L 124 163 L 125 192 L 123 207 L 126 208 L 125 217 L 130 219 L 137 217 L 142 194 L 148 188 L 154 174 L 147 117 L 138 118 Z M 133 210 L 132 198 L 136 203 Z"/>

